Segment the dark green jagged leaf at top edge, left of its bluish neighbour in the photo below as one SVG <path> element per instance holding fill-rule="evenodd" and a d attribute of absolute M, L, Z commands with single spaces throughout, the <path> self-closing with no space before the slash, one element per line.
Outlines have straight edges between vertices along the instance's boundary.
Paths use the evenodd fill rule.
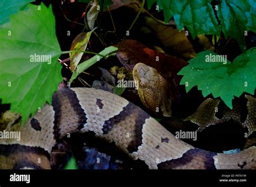
<path fill-rule="evenodd" d="M 173 16 L 178 30 L 184 26 L 193 38 L 198 34 L 220 35 L 220 27 L 214 15 L 211 0 L 157 0 L 159 10 L 164 10 L 165 22 Z M 153 4 L 153 1 L 150 1 Z"/>

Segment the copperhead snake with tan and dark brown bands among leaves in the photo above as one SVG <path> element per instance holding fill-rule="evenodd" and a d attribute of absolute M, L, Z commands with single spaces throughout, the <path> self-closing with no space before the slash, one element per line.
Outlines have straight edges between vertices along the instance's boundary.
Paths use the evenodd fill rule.
<path fill-rule="evenodd" d="M 148 74 L 153 79 L 141 79 Z M 165 80 L 151 67 L 138 64 L 133 77 L 138 80 L 138 92 L 147 108 L 157 106 L 164 115 L 171 100 L 166 94 Z M 152 88 L 158 86 L 161 88 Z M 143 88 L 143 89 L 141 89 Z M 145 90 L 147 89 L 146 92 Z M 255 130 L 256 100 L 246 95 L 248 115 L 243 125 L 249 133 Z M 152 100 L 156 101 L 151 104 Z M 240 120 L 235 112 L 227 112 L 218 119 L 215 112 L 202 116 L 206 108 L 218 107 L 218 100 L 206 100 L 198 110 L 184 121 L 191 121 L 204 129 L 210 123 L 230 119 Z M 202 119 L 206 120 L 202 120 Z M 93 132 L 96 137 L 114 142 L 118 148 L 134 160 L 142 160 L 149 169 L 256 169 L 256 147 L 237 154 L 212 153 L 195 148 L 176 138 L 153 117 L 121 96 L 94 88 L 66 88 L 52 96 L 52 105 L 45 105 L 24 126 L 19 120 L 10 122 L 6 131 L 20 131 L 21 140 L 0 139 L 0 169 L 51 169 L 50 154 L 56 141 L 68 133 Z M 41 162 L 38 163 L 38 160 Z M 241 167 L 242 165 L 242 167 Z"/>

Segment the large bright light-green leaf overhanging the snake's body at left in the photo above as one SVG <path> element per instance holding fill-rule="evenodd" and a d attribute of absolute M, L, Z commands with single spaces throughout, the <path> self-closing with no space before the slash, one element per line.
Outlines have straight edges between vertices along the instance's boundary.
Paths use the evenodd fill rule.
<path fill-rule="evenodd" d="M 29 4 L 0 27 L 0 99 L 26 121 L 30 114 L 51 103 L 62 80 L 60 47 L 51 6 Z"/>

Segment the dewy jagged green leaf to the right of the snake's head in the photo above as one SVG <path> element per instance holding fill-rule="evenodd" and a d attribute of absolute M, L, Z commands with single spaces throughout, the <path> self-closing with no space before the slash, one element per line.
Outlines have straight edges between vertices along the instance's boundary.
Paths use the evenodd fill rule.
<path fill-rule="evenodd" d="M 197 86 L 204 96 L 212 93 L 214 98 L 220 97 L 228 107 L 232 108 L 234 96 L 239 97 L 243 92 L 254 94 L 255 59 L 256 47 L 235 58 L 233 63 L 225 61 L 225 56 L 220 58 L 214 52 L 200 52 L 178 73 L 184 75 L 180 84 L 186 85 L 187 92 Z"/>

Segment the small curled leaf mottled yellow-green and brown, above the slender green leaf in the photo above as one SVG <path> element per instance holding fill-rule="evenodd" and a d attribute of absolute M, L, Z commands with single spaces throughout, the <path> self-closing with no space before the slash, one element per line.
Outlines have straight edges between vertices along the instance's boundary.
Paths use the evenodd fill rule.
<path fill-rule="evenodd" d="M 75 68 L 77 67 L 79 61 L 81 60 L 82 56 L 83 56 L 83 51 L 86 50 L 88 41 L 91 37 L 91 33 L 94 31 L 95 29 L 93 29 L 90 32 L 83 32 L 78 34 L 78 36 L 73 40 L 71 47 L 70 47 L 70 51 L 73 51 L 71 53 L 69 53 L 69 57 L 70 57 L 70 69 L 71 71 L 75 70 Z"/>

